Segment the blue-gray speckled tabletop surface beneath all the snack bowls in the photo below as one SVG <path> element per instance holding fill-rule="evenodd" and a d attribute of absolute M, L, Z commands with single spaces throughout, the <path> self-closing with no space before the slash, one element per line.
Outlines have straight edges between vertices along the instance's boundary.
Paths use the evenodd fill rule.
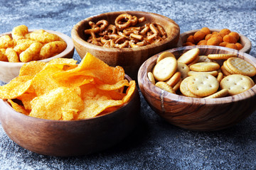
<path fill-rule="evenodd" d="M 172 18 L 181 33 L 207 26 L 229 28 L 252 41 L 256 56 L 256 1 L 222 0 L 16 0 L 0 1 L 0 33 L 29 29 L 71 29 L 88 16 L 109 11 L 150 11 Z M 80 61 L 77 52 L 75 60 Z M 0 82 L 1 85 L 3 84 Z M 0 126 L 0 169 L 256 169 L 256 114 L 217 132 L 176 128 L 159 118 L 142 98 L 144 123 L 124 142 L 83 157 L 48 157 L 19 147 Z"/>

